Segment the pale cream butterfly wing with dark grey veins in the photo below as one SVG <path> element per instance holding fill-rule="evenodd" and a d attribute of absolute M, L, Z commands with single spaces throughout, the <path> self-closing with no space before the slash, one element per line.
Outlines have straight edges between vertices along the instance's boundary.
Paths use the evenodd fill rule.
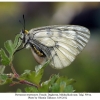
<path fill-rule="evenodd" d="M 70 65 L 90 38 L 89 30 L 77 25 L 34 28 L 29 31 L 29 34 L 34 40 L 38 41 L 38 44 L 46 47 L 45 50 L 41 47 L 41 50 L 48 59 L 51 59 L 50 64 L 56 69 Z"/>

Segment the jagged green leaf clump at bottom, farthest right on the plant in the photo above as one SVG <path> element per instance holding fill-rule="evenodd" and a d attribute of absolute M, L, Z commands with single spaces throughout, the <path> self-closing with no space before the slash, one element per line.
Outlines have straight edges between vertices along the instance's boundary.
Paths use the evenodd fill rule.
<path fill-rule="evenodd" d="M 49 88 L 51 92 L 74 92 L 73 87 L 71 86 L 71 84 L 74 82 L 73 79 L 68 79 L 64 76 L 60 77 L 59 75 L 53 75 L 50 81 L 51 86 Z"/>

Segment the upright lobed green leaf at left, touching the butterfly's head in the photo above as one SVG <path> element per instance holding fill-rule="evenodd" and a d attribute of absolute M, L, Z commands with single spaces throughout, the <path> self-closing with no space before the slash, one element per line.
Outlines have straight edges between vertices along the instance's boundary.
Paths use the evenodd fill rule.
<path fill-rule="evenodd" d="M 18 34 L 16 37 L 15 37 L 15 40 L 14 40 L 14 43 L 11 41 L 11 40 L 8 40 L 4 43 L 4 47 L 6 48 L 6 50 L 8 51 L 9 53 L 9 58 L 8 56 L 6 55 L 6 53 L 4 52 L 3 49 L 1 49 L 1 57 L 2 57 L 2 64 L 3 65 L 9 65 L 9 63 L 12 61 L 13 59 L 13 54 L 14 52 L 16 51 L 16 49 L 21 45 L 21 40 L 19 39 L 20 37 L 20 34 Z"/>

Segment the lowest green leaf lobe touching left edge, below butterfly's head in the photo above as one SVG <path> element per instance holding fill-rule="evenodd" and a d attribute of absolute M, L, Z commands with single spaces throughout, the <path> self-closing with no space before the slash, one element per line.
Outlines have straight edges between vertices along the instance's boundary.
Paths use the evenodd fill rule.
<path fill-rule="evenodd" d="M 8 56 L 6 55 L 5 51 L 2 48 L 0 50 L 0 55 L 1 55 L 2 65 L 5 65 L 5 66 L 9 65 L 10 60 L 9 60 Z"/>

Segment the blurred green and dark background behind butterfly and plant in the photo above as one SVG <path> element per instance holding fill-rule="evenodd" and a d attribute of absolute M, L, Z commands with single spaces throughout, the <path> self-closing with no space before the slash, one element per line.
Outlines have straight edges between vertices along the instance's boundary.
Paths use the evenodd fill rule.
<path fill-rule="evenodd" d="M 99 2 L 0 2 L 0 48 L 6 40 L 14 40 L 23 26 L 19 23 L 25 15 L 26 29 L 46 25 L 82 25 L 89 28 L 91 38 L 86 48 L 68 67 L 55 70 L 46 67 L 43 80 L 51 74 L 73 78 L 76 92 L 100 92 L 100 3 Z M 34 70 L 38 63 L 30 50 L 15 54 L 14 67 L 21 74 L 24 70 Z M 5 73 L 10 73 L 9 66 Z M 0 92 L 14 92 L 24 85 L 0 86 Z"/>

